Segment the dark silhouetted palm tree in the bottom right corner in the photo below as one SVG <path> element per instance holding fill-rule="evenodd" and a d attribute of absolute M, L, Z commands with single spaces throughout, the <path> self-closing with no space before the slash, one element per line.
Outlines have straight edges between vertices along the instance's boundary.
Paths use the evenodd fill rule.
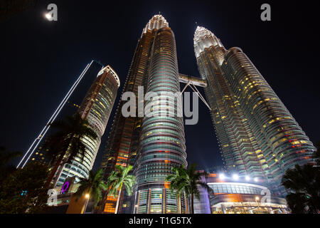
<path fill-rule="evenodd" d="M 292 213 L 320 212 L 320 170 L 312 165 L 299 166 L 287 170 L 282 177 L 282 185 L 287 189 L 287 203 Z"/>

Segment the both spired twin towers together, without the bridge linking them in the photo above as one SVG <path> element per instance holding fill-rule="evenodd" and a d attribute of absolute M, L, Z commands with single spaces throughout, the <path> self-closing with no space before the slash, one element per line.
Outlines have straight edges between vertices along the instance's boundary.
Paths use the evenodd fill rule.
<path fill-rule="evenodd" d="M 284 171 L 314 162 L 314 145 L 240 48 L 225 49 L 211 31 L 199 26 L 193 44 L 226 170 L 255 177 L 282 195 Z M 142 31 L 122 93 L 138 95 L 139 86 L 145 93 L 164 96 L 180 92 L 174 32 L 161 15 Z M 165 181 L 171 167 L 187 165 L 183 118 L 124 118 L 123 104 L 120 100 L 102 161 L 106 177 L 115 165 L 134 166 L 134 195 L 122 195 L 120 211 L 188 213 L 186 195 L 171 195 Z M 175 111 L 167 103 L 157 104 L 159 112 Z M 106 199 L 104 212 L 114 212 L 114 202 Z"/>

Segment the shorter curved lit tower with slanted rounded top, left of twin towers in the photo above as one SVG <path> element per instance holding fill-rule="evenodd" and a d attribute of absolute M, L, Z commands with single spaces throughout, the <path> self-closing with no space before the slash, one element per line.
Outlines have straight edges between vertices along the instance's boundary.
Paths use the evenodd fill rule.
<path fill-rule="evenodd" d="M 86 146 L 83 160 L 80 157 L 75 157 L 72 162 L 60 167 L 55 177 L 55 186 L 63 185 L 68 177 L 75 176 L 75 182 L 78 182 L 80 177 L 88 177 L 95 162 L 101 137 L 105 132 L 119 86 L 117 73 L 110 66 L 102 68 L 78 109 L 81 117 L 90 123 L 90 128 L 95 131 L 97 138 L 82 138 L 82 142 Z"/>

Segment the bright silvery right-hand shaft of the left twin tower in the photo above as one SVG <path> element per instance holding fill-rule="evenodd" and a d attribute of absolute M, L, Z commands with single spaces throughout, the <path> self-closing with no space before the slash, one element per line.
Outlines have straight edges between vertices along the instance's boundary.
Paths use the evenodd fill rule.
<path fill-rule="evenodd" d="M 145 103 L 146 113 L 142 120 L 138 157 L 134 174 L 137 177 L 134 213 L 186 213 L 185 196 L 176 199 L 171 195 L 169 182 L 165 182 L 171 167 L 187 165 L 186 145 L 184 140 L 183 118 L 178 117 L 181 107 L 178 82 L 178 61 L 174 33 L 167 24 L 154 16 L 147 29 L 157 29 L 151 47 L 149 75 L 146 92 L 156 93 Z"/>

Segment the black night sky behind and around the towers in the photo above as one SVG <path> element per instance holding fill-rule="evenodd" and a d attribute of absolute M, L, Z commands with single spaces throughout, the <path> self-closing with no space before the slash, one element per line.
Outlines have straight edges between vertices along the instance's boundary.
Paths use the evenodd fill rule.
<path fill-rule="evenodd" d="M 242 48 L 306 135 L 319 141 L 319 13 L 314 2 L 39 1 L 0 22 L 0 145 L 26 152 L 92 59 L 110 64 L 123 86 L 142 28 L 159 11 L 175 33 L 181 73 L 198 76 L 193 52 L 198 22 L 225 48 Z M 50 3 L 58 6 L 58 21 L 43 17 Z M 263 3 L 271 5 L 272 21 L 260 20 Z M 187 160 L 208 169 L 222 160 L 209 111 L 202 103 L 199 109 L 198 124 L 185 127 Z M 112 120 L 113 115 L 95 168 Z"/>

